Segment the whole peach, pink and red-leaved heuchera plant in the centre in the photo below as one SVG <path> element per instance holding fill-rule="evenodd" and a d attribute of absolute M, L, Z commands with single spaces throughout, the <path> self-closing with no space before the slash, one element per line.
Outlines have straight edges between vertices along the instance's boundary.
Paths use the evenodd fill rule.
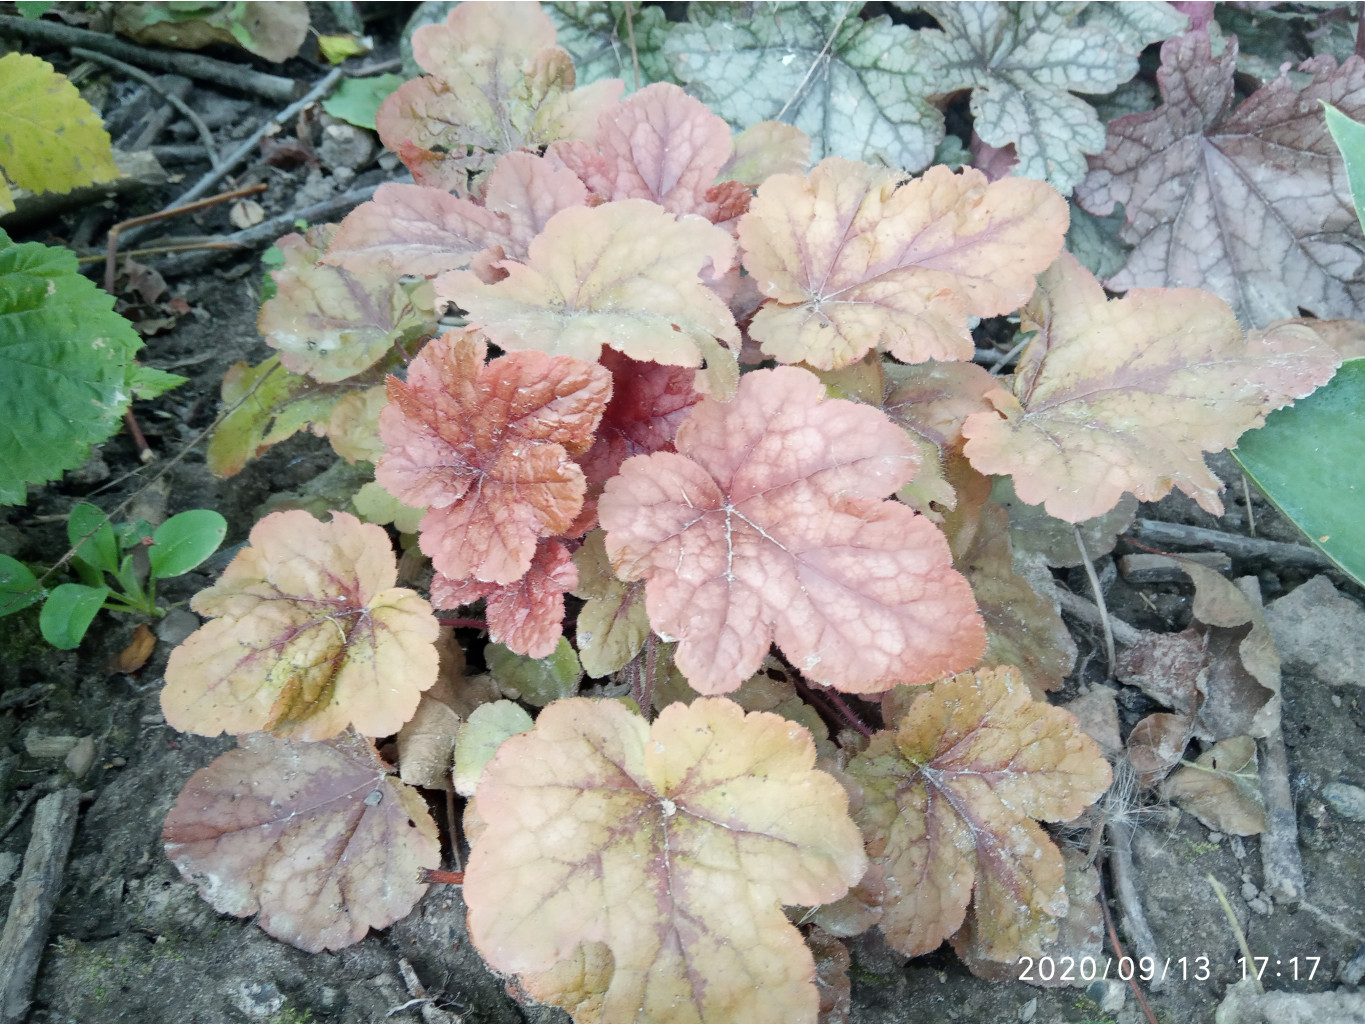
<path fill-rule="evenodd" d="M 576 87 L 535 8 L 460 5 L 414 53 L 377 124 L 416 183 L 284 240 L 280 354 L 233 371 L 255 401 L 214 449 L 311 425 L 375 479 L 330 523 L 262 519 L 195 598 L 167 720 L 244 739 L 168 853 L 336 949 L 422 897 L 414 786 L 453 788 L 474 943 L 579 1021 L 815 1021 L 870 927 L 1050 949 L 1093 892 L 1039 822 L 1110 769 L 1044 699 L 1074 649 L 991 477 L 1066 523 L 1173 487 L 1216 511 L 1203 453 L 1336 354 L 1190 288 L 1107 298 L 1043 180 L 809 168 L 800 131 L 732 134 L 678 86 Z M 972 319 L 1016 313 L 995 377 Z M 465 651 L 434 608 L 479 602 Z"/>

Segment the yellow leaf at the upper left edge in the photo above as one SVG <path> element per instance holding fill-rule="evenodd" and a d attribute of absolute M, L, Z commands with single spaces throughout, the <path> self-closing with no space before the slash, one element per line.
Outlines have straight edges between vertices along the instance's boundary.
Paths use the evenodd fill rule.
<path fill-rule="evenodd" d="M 66 75 L 29 53 L 0 57 L 0 168 L 35 193 L 120 176 L 100 115 Z"/>

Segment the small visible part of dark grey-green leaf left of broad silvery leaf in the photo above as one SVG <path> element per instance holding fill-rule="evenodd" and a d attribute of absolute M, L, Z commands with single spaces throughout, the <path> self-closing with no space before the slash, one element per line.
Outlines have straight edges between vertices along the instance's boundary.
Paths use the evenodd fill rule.
<path fill-rule="evenodd" d="M 554 22 L 558 44 L 573 57 L 580 86 L 601 78 L 620 78 L 627 91 L 633 91 L 636 60 L 640 63 L 640 87 L 674 81 L 663 56 L 669 22 L 662 7 L 554 0 L 543 4 L 543 10 Z"/>

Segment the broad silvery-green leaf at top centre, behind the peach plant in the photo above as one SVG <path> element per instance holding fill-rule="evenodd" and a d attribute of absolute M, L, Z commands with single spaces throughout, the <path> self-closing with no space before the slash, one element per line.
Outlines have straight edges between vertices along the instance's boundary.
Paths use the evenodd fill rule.
<path fill-rule="evenodd" d="M 814 158 L 865 160 L 919 171 L 943 138 L 939 89 L 910 51 L 910 30 L 857 3 L 706 4 L 669 33 L 678 79 L 744 128 L 785 120 L 815 143 Z M 1100 135 L 1103 145 L 1103 132 Z"/>

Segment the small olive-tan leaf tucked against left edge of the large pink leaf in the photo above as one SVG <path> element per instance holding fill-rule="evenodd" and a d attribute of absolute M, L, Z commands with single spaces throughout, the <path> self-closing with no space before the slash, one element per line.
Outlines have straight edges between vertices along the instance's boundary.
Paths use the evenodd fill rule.
<path fill-rule="evenodd" d="M 573 597 L 583 598 L 575 639 L 583 670 L 610 676 L 644 647 L 650 618 L 644 612 L 644 584 L 622 583 L 606 554 L 606 535 L 594 530 L 573 553 L 579 583 Z"/>

